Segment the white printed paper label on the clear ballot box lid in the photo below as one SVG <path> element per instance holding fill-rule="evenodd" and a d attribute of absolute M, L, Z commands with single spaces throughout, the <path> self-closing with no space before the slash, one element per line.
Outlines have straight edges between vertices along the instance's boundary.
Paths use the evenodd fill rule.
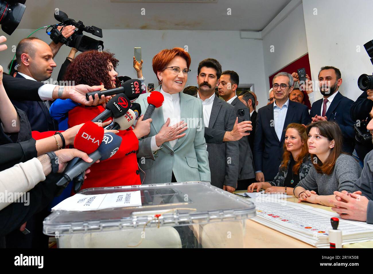
<path fill-rule="evenodd" d="M 87 211 L 135 206 L 141 206 L 140 190 L 96 195 L 75 194 L 57 204 L 52 210 Z"/>

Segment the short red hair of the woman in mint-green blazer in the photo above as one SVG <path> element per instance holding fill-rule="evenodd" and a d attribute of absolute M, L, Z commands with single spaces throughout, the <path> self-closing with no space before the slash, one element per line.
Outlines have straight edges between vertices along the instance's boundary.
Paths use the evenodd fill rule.
<path fill-rule="evenodd" d="M 184 48 L 173 48 L 172 50 L 164 49 L 160 52 L 158 52 L 154 57 L 153 57 L 153 71 L 157 76 L 157 79 L 159 81 L 157 72 L 158 71 L 163 71 L 166 67 L 167 64 L 171 62 L 173 58 L 176 56 L 180 56 L 185 59 L 186 61 L 186 67 L 189 69 L 190 63 L 191 63 L 191 58 L 188 52 L 184 50 Z"/>

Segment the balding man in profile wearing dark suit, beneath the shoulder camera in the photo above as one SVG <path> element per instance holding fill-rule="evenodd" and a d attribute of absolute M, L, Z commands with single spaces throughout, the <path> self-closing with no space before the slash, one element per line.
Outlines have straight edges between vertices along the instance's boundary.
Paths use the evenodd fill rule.
<path fill-rule="evenodd" d="M 37 38 L 25 38 L 16 48 L 16 58 L 19 64 L 16 78 L 24 78 L 42 82 L 50 78 L 56 63 L 49 45 Z M 57 131 L 58 124 L 49 114 L 49 101 L 18 101 L 13 105 L 26 112 L 31 130 Z"/>

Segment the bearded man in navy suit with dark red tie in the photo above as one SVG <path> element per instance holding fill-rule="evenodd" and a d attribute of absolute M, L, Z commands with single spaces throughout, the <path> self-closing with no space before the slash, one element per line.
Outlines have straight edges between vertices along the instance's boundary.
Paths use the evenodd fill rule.
<path fill-rule="evenodd" d="M 341 71 L 338 68 L 322 67 L 319 72 L 319 87 L 323 98 L 313 103 L 310 115 L 312 122 L 325 120 L 337 122 L 342 131 L 343 150 L 352 154 L 355 146 L 355 133 L 350 109 L 354 101 L 338 92 L 341 85 Z"/>

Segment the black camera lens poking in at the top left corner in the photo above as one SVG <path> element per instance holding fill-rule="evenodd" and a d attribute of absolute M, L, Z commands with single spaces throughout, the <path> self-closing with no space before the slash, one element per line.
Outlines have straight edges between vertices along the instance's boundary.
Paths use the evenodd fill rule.
<path fill-rule="evenodd" d="M 0 25 L 6 34 L 12 35 L 21 22 L 26 9 L 25 2 L 26 0 L 0 0 Z"/>

